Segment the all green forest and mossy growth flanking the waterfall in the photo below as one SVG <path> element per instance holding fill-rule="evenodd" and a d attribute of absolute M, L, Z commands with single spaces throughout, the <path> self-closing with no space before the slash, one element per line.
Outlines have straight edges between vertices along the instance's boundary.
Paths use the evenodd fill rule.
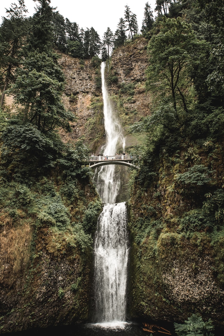
<path fill-rule="evenodd" d="M 107 61 L 122 126 L 133 136 L 146 135 L 144 143 L 130 146 L 141 162 L 129 172 L 129 317 L 183 322 L 194 312 L 223 325 L 223 1 L 157 0 L 156 17 L 147 2 L 140 31 L 126 5 L 117 30 L 105 28 L 102 41 L 93 27 L 83 30 L 64 18 L 50 0 L 35 1 L 32 17 L 26 17 L 25 1 L 17 2 L 0 26 L 0 292 L 12 297 L 2 301 L 0 332 L 90 318 L 92 242 L 102 204 L 83 165 L 89 143 L 65 143 L 59 135 L 69 133 L 76 118 L 62 101 L 62 54 L 78 58 L 80 67 L 90 61 L 96 111 L 102 108 L 99 66 Z M 139 83 L 120 83 L 112 61 L 116 50 L 139 40 L 147 50 L 142 90 L 150 104 L 136 122 L 122 113 Z M 56 292 L 39 277 L 52 260 L 52 274 L 61 262 L 70 270 L 66 283 L 54 284 Z M 41 295 L 53 307 L 65 305 L 57 321 L 51 311 L 45 320 L 31 318 L 43 305 Z"/>

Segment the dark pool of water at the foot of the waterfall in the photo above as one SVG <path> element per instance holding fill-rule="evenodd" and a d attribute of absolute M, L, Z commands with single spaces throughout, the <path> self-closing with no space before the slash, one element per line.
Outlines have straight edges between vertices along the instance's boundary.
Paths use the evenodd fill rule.
<path fill-rule="evenodd" d="M 172 336 L 176 336 L 174 332 L 173 324 L 154 324 L 154 326 L 165 328 L 168 333 Z M 150 325 L 150 323 L 149 323 Z M 55 336 L 55 335 L 66 335 L 66 336 L 150 336 L 150 331 L 143 330 L 145 327 L 143 324 L 134 322 L 119 322 L 115 324 L 79 324 L 71 326 L 60 326 L 60 327 L 49 327 L 49 328 L 37 328 L 32 330 L 26 330 L 23 332 L 2 334 L 2 336 Z M 153 327 L 153 336 L 164 335 L 164 333 L 155 331 L 156 327 Z M 216 328 L 215 336 L 223 336 L 224 328 Z"/>

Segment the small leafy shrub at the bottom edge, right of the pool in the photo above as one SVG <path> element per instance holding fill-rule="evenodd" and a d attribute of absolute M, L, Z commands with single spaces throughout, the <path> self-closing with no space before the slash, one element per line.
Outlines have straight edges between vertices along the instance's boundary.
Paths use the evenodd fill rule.
<path fill-rule="evenodd" d="M 192 314 L 184 321 L 184 324 L 174 323 L 175 332 L 178 336 L 214 336 L 211 330 L 214 329 L 211 319 L 207 322 L 201 316 Z"/>

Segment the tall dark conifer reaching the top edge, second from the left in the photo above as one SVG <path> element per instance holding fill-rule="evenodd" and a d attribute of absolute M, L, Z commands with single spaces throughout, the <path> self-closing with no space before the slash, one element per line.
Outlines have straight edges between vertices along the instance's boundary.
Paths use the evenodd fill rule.
<path fill-rule="evenodd" d="M 31 28 L 27 37 L 28 50 L 52 52 L 54 41 L 54 10 L 50 6 L 51 0 L 33 0 L 39 2 L 36 12 L 31 18 Z"/>

